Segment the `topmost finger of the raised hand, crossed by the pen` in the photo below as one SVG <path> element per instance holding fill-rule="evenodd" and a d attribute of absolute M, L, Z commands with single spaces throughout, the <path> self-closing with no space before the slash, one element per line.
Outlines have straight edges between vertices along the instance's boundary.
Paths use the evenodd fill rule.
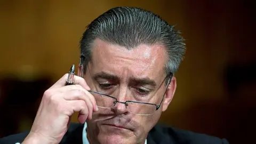
<path fill-rule="evenodd" d="M 66 86 L 67 78 L 68 78 L 68 74 L 65 74 L 54 85 L 52 85 L 50 89 Z M 74 84 L 79 84 L 82 87 L 84 87 L 85 90 L 90 90 L 90 87 L 87 85 L 87 83 L 85 82 L 85 79 L 82 77 L 74 76 Z"/>

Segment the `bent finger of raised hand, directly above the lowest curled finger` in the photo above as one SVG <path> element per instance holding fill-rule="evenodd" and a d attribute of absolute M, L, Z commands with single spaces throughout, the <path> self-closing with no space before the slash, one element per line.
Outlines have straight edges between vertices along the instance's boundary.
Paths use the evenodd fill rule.
<path fill-rule="evenodd" d="M 88 105 L 92 105 L 92 110 L 94 112 L 98 111 L 97 103 L 93 95 L 83 89 L 81 85 L 68 85 L 65 87 L 61 87 L 59 89 L 62 93 L 68 93 L 63 95 L 65 100 L 84 100 Z"/>

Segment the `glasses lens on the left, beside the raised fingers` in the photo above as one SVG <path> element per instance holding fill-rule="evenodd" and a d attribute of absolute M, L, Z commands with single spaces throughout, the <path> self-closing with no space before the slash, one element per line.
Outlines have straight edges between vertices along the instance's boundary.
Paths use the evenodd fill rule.
<path fill-rule="evenodd" d="M 108 97 L 103 94 L 98 94 L 98 93 L 93 93 L 91 92 L 92 95 L 94 96 L 97 106 L 101 108 L 111 108 L 114 106 L 114 101 L 116 101 L 114 98 Z"/>

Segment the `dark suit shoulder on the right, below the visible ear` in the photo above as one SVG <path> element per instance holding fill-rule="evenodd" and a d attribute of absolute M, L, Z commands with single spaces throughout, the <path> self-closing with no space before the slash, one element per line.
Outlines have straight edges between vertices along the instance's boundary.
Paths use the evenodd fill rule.
<path fill-rule="evenodd" d="M 161 133 L 166 133 L 169 135 L 170 139 L 174 143 L 190 143 L 190 144 L 228 144 L 226 139 L 220 139 L 211 135 L 195 133 L 192 131 L 180 130 L 171 126 L 165 126 L 158 124 L 156 130 Z"/>

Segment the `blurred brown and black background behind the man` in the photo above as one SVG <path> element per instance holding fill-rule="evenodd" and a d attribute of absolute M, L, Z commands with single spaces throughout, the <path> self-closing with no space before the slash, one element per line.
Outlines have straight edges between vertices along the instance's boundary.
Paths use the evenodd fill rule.
<path fill-rule="evenodd" d="M 186 39 L 162 123 L 254 143 L 255 2 L 235 0 L 0 0 L 0 138 L 30 129 L 43 92 L 78 64 L 85 27 L 115 6 L 153 11 Z"/>

